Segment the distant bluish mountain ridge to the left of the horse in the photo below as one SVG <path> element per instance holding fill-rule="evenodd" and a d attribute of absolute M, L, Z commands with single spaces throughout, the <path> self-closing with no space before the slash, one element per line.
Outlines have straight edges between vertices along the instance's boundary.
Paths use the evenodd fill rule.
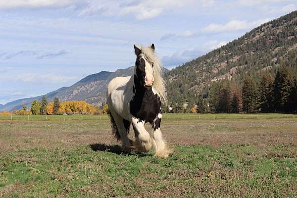
<path fill-rule="evenodd" d="M 106 86 L 109 81 L 118 76 L 131 76 L 134 67 L 127 69 L 118 69 L 115 72 L 101 71 L 97 74 L 89 75 L 82 80 L 78 81 L 70 87 L 62 87 L 58 90 L 50 92 L 45 95 L 48 101 L 53 101 L 58 97 L 61 101 L 66 100 L 85 100 L 91 104 L 98 105 L 105 101 Z M 24 105 L 28 107 L 34 99 L 41 100 L 43 96 L 38 96 L 28 99 L 18 99 L 8 102 L 5 105 L 0 105 L 0 110 L 11 111 L 13 109 L 20 109 Z"/>

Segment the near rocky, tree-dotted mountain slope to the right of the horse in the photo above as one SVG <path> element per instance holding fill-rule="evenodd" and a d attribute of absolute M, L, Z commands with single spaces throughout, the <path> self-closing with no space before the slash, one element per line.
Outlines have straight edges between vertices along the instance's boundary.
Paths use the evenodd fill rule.
<path fill-rule="evenodd" d="M 208 97 L 211 82 L 246 75 L 257 80 L 260 71 L 276 73 L 286 60 L 297 67 L 297 11 L 265 23 L 244 36 L 187 62 L 165 75 L 169 102 Z"/>

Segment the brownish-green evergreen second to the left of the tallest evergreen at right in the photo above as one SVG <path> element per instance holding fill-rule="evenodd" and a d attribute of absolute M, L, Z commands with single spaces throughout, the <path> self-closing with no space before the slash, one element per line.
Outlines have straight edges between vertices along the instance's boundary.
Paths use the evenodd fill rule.
<path fill-rule="evenodd" d="M 257 87 L 254 79 L 250 76 L 246 76 L 242 95 L 243 110 L 248 113 L 257 111 Z"/>

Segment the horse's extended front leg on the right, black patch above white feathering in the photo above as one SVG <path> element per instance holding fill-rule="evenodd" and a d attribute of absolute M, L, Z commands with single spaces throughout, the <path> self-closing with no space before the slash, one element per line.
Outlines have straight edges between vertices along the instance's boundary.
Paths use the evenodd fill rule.
<path fill-rule="evenodd" d="M 159 113 L 153 123 L 153 142 L 156 153 L 154 156 L 160 157 L 160 158 L 167 158 L 169 154 L 173 152 L 171 148 L 167 146 L 165 141 L 162 137 L 162 132 L 160 130 L 160 124 L 161 124 L 162 114 Z"/>

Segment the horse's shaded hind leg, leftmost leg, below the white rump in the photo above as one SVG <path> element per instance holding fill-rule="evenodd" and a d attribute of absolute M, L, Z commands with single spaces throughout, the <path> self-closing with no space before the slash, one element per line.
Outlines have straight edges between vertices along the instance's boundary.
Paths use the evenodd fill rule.
<path fill-rule="evenodd" d="M 129 127 L 130 122 L 123 119 L 120 115 L 110 109 L 110 113 L 115 121 L 117 127 L 117 133 L 120 136 L 120 140 L 122 142 L 122 149 L 125 152 L 130 152 L 131 150 L 131 143 L 128 139 Z"/>

